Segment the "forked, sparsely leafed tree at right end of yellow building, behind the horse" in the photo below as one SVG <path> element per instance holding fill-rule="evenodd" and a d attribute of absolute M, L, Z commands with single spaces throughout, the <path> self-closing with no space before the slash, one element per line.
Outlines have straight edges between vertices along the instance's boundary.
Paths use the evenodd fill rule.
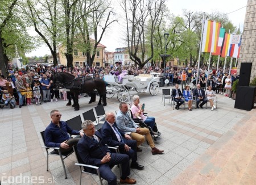
<path fill-rule="evenodd" d="M 79 33 L 75 36 L 76 48 L 86 53 L 86 62 L 93 65 L 98 44 L 106 29 L 116 19 L 112 19 L 114 12 L 108 1 L 79 0 L 77 3 L 76 20 Z M 93 35 L 93 39 L 90 39 Z"/>

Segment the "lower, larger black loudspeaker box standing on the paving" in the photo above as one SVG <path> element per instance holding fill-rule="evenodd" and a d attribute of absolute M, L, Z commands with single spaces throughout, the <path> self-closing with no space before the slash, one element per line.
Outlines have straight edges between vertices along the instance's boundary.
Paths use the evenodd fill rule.
<path fill-rule="evenodd" d="M 256 87 L 237 86 L 237 95 L 234 108 L 250 111 L 254 107 Z"/>

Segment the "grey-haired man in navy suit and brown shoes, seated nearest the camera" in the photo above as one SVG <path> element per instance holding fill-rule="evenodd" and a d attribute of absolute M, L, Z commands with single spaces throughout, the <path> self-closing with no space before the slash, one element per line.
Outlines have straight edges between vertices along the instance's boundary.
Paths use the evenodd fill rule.
<path fill-rule="evenodd" d="M 77 151 L 87 165 L 98 166 L 101 177 L 108 181 L 108 184 L 117 184 L 117 176 L 112 172 L 111 166 L 121 165 L 120 183 L 135 184 L 135 179 L 130 179 L 129 156 L 126 154 L 110 153 L 108 146 L 102 141 L 101 133 L 96 131 L 93 122 L 85 120 L 82 123 L 84 136 L 77 144 Z"/>

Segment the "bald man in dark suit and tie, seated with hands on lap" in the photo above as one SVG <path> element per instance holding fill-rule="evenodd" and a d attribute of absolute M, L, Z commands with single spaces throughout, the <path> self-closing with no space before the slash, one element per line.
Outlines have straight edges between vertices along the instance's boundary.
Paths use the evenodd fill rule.
<path fill-rule="evenodd" d="M 106 114 L 106 121 L 101 128 L 102 139 L 109 146 L 118 146 L 119 152 L 127 154 L 131 158 L 131 169 L 142 170 L 144 166 L 139 165 L 137 161 L 137 141 L 122 132 L 115 124 L 115 115 L 113 112 Z"/>

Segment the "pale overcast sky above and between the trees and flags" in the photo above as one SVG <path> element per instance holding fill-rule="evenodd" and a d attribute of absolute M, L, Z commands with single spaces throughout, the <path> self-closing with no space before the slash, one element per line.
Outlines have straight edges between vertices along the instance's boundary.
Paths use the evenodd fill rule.
<path fill-rule="evenodd" d="M 114 2 L 115 9 L 120 11 L 120 7 L 117 7 L 118 0 L 112 0 L 112 2 Z M 209 14 L 214 11 L 219 11 L 226 14 L 232 12 L 228 14 L 229 20 L 231 20 L 234 26 L 238 27 L 240 25 L 240 30 L 242 31 L 246 12 L 246 7 L 244 6 L 247 5 L 247 0 L 166 0 L 166 5 L 172 14 L 180 16 L 183 15 L 183 9 L 194 12 L 204 11 L 208 12 Z M 114 52 L 115 48 L 125 47 L 125 44 L 123 44 L 123 27 L 120 25 L 121 22 L 122 21 L 119 21 L 119 23 L 114 23 L 112 27 L 105 32 L 104 37 L 102 37 L 101 44 L 105 45 L 106 50 L 109 52 Z M 36 33 L 31 31 L 31 35 L 36 35 Z M 45 54 L 51 54 L 51 52 L 46 45 L 42 45 L 42 47 L 39 47 L 35 51 L 26 53 L 26 56 L 39 57 L 44 56 Z"/>

